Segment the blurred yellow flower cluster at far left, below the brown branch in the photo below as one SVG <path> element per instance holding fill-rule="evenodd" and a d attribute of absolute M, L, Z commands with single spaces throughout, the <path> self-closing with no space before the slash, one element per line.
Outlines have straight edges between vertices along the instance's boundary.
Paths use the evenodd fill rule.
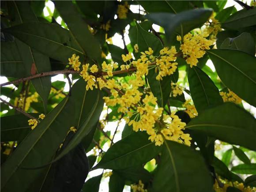
<path fill-rule="evenodd" d="M 31 94 L 31 93 L 29 93 Z M 27 111 L 30 108 L 30 104 L 32 102 L 38 102 L 38 93 L 35 92 L 34 94 L 30 95 L 29 97 L 26 97 L 26 102 L 25 102 L 25 93 L 24 94 L 20 94 L 19 98 L 15 98 L 14 100 L 14 105 L 24 109 L 24 111 Z M 25 104 L 25 107 L 24 107 Z"/>

